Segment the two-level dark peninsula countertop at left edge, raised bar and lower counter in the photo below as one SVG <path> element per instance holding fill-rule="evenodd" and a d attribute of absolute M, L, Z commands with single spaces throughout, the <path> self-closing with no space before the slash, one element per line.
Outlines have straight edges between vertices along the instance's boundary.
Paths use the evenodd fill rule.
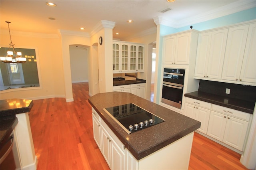
<path fill-rule="evenodd" d="M 32 100 L 26 99 L 7 99 L 0 101 L 0 130 L 1 130 L 1 146 L 8 140 L 13 129 L 18 124 L 16 114 L 26 113 L 31 110 L 33 106 Z"/>

